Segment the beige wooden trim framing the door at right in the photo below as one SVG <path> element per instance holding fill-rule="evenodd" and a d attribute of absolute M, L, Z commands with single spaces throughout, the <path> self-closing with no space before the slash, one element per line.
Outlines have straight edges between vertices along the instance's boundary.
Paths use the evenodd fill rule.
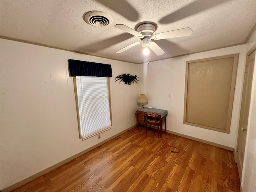
<path fill-rule="evenodd" d="M 237 140 L 236 140 L 236 148 L 234 149 L 234 159 L 235 162 L 237 164 L 237 168 L 238 168 L 238 174 L 239 174 L 239 178 L 241 181 L 242 178 L 242 167 L 240 166 L 239 163 L 239 157 L 238 157 L 238 144 L 239 144 L 239 139 L 240 139 L 240 121 L 241 121 L 241 110 L 242 110 L 242 94 L 243 94 L 243 90 L 244 90 L 244 80 L 245 80 L 245 72 L 246 72 L 246 64 L 248 62 L 248 57 L 256 50 L 256 44 L 254 44 L 252 46 L 252 48 L 250 48 L 250 50 L 247 52 L 246 54 L 246 62 L 244 65 L 244 76 L 243 76 L 243 82 L 242 82 L 242 93 L 241 93 L 241 105 L 240 105 L 240 112 L 239 112 L 239 122 L 238 122 L 238 126 L 237 126 L 237 131 L 238 131 L 238 135 L 237 135 Z M 254 63 L 254 67 L 255 67 L 255 63 Z"/>

